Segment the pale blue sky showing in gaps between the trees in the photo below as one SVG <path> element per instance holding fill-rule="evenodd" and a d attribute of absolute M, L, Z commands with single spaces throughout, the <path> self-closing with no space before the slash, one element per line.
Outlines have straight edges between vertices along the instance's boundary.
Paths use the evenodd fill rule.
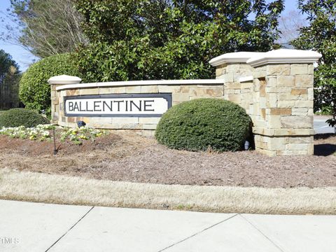
<path fill-rule="evenodd" d="M 9 6 L 10 0 L 0 0 L 0 18 L 6 19 L 6 13 Z M 290 12 L 290 10 L 295 9 L 297 9 L 296 0 L 285 0 L 285 10 L 283 15 L 286 15 L 286 13 Z M 10 21 L 6 19 L 6 22 Z M 5 23 L 0 22 L 0 36 L 3 31 L 6 31 L 6 25 Z M 0 49 L 12 55 L 15 62 L 19 64 L 21 71 L 25 71 L 32 62 L 38 60 L 38 58 L 32 55 L 29 51 L 25 50 L 20 45 L 13 45 L 10 41 L 0 41 Z"/>

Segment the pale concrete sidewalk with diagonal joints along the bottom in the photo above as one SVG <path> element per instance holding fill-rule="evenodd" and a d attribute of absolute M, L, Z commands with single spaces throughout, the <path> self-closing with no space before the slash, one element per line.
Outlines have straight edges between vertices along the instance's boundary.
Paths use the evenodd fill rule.
<path fill-rule="evenodd" d="M 336 251 L 336 216 L 209 214 L 0 200 L 0 251 Z"/>

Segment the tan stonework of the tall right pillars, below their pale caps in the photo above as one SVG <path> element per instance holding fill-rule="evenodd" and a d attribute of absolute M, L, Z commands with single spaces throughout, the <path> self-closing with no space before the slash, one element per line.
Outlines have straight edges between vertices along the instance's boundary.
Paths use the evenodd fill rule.
<path fill-rule="evenodd" d="M 233 63 L 218 69 L 216 77 L 225 79 L 224 98 L 251 116 L 257 151 L 267 155 L 314 154 L 313 64 L 267 64 L 253 69 Z M 230 69 L 237 71 L 233 78 Z M 248 69 L 243 75 L 251 73 L 253 81 L 239 82 L 244 80 L 239 69 Z"/>

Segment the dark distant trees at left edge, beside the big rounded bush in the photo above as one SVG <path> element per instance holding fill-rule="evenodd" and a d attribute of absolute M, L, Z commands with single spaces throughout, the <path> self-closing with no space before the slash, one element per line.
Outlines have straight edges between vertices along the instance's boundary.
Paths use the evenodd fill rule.
<path fill-rule="evenodd" d="M 18 106 L 18 64 L 3 50 L 0 50 L 0 109 Z"/>

